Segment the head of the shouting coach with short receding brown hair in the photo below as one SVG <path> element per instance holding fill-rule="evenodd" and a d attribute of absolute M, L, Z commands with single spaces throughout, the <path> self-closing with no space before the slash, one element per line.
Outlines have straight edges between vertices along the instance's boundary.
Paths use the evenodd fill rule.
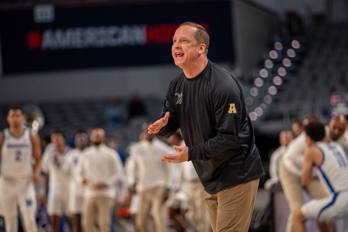
<path fill-rule="evenodd" d="M 174 63 L 184 69 L 200 58 L 205 58 L 208 47 L 209 35 L 203 26 L 192 22 L 182 23 L 173 36 Z"/>

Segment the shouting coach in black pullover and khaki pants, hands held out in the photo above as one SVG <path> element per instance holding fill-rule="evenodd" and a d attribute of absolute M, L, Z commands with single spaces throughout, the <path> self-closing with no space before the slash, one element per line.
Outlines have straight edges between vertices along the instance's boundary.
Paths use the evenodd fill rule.
<path fill-rule="evenodd" d="M 183 73 L 169 84 L 161 116 L 148 133 L 169 138 L 181 128 L 187 146 L 161 161 L 192 161 L 205 189 L 214 232 L 247 232 L 260 177 L 261 158 L 242 89 L 207 58 L 209 35 L 185 22 L 175 31 L 172 56 Z"/>

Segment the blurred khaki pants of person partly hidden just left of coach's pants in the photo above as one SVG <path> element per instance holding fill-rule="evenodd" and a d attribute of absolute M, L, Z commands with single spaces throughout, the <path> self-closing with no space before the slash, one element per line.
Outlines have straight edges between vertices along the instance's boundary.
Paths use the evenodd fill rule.
<path fill-rule="evenodd" d="M 204 187 L 200 181 L 186 182 L 189 205 L 193 212 L 193 222 L 197 232 L 208 232 L 208 214 L 204 200 Z"/>

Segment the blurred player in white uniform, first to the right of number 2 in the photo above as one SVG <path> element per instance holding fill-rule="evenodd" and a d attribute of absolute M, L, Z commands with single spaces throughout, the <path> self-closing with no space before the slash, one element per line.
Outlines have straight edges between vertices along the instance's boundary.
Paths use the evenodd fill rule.
<path fill-rule="evenodd" d="M 54 144 L 42 156 L 42 171 L 46 173 L 46 196 L 43 201 L 47 203 L 47 211 L 52 224 L 53 232 L 59 231 L 61 216 L 70 216 L 68 210 L 70 175 L 64 169 L 68 162 L 70 148 L 65 145 L 64 134 L 54 131 L 51 134 L 51 141 Z M 69 218 L 69 221 L 72 221 Z"/>

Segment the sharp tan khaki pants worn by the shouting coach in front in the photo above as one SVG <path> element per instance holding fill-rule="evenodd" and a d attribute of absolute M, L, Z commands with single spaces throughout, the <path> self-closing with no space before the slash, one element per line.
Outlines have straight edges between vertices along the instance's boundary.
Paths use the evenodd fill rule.
<path fill-rule="evenodd" d="M 209 220 L 214 232 L 247 232 L 260 178 L 216 194 L 205 192 Z"/>

